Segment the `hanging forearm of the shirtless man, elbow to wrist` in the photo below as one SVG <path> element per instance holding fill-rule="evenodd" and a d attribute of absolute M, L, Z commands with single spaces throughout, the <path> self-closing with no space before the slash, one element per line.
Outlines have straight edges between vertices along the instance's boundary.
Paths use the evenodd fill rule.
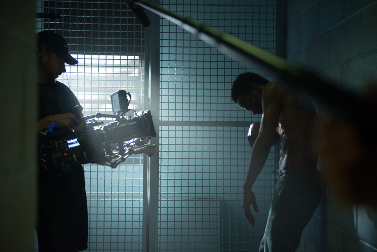
<path fill-rule="evenodd" d="M 258 143 L 258 139 L 255 141 L 254 148 L 251 151 L 250 164 L 244 188 L 250 189 L 253 186 L 267 160 L 268 154 L 270 153 L 270 148 L 271 146 L 269 145 L 261 146 Z"/>

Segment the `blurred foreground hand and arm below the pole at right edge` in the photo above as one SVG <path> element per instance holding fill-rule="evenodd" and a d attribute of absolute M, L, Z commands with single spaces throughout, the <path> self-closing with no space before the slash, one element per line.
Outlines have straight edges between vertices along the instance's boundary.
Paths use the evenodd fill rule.
<path fill-rule="evenodd" d="M 368 86 L 365 99 L 377 101 L 375 83 Z M 374 116 L 370 115 L 370 123 L 375 123 Z M 377 147 L 365 143 L 355 124 L 334 118 L 323 117 L 319 129 L 326 186 L 342 203 L 377 209 Z"/>

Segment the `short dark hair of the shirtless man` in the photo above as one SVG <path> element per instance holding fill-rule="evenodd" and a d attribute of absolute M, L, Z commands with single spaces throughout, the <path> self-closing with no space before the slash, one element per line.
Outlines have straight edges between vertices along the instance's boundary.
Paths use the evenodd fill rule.
<path fill-rule="evenodd" d="M 236 80 L 233 81 L 232 89 L 230 91 L 232 101 L 237 103 L 239 95 L 251 92 L 253 89 L 250 84 L 253 82 L 260 85 L 266 85 L 270 81 L 261 75 L 252 72 L 239 74 Z"/>

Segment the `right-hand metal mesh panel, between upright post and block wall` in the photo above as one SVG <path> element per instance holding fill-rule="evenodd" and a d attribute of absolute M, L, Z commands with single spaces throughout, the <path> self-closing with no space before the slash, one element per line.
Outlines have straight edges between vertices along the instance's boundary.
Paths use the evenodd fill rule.
<path fill-rule="evenodd" d="M 164 0 L 162 7 L 274 52 L 274 1 Z M 256 251 L 272 199 L 274 149 L 254 186 L 259 213 L 251 227 L 242 209 L 246 135 L 260 118 L 232 104 L 230 88 L 245 71 L 272 78 L 164 19 L 160 45 L 158 249 Z"/>

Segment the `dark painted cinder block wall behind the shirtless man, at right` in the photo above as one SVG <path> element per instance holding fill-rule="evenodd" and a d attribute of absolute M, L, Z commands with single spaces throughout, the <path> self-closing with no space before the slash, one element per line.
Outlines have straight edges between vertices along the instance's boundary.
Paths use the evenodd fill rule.
<path fill-rule="evenodd" d="M 377 81 L 377 1 L 288 0 L 287 57 L 362 92 Z M 376 211 L 325 195 L 303 232 L 303 251 L 377 251 Z"/>

